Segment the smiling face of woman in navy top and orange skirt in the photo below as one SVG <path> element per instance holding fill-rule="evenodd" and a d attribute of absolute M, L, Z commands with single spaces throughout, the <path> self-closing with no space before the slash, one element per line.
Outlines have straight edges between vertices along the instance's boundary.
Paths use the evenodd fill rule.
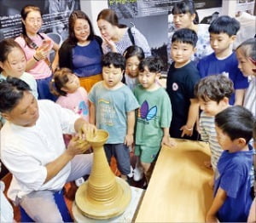
<path fill-rule="evenodd" d="M 73 31 L 79 43 L 86 42 L 90 35 L 90 26 L 88 21 L 84 19 L 77 19 L 75 21 Z"/>

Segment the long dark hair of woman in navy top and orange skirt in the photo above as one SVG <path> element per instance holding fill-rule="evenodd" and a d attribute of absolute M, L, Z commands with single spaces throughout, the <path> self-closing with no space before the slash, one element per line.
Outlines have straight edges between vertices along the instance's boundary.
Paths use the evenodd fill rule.
<path fill-rule="evenodd" d="M 78 39 L 74 34 L 74 25 L 76 20 L 81 19 L 81 20 L 86 20 L 88 21 L 88 24 L 90 26 L 90 35 L 88 37 L 89 40 L 92 40 L 94 38 L 94 31 L 93 27 L 91 25 L 90 19 L 85 14 L 83 11 L 80 10 L 74 10 L 72 14 L 70 14 L 69 19 L 68 19 L 68 42 L 71 43 L 72 45 L 76 45 L 78 43 Z"/>

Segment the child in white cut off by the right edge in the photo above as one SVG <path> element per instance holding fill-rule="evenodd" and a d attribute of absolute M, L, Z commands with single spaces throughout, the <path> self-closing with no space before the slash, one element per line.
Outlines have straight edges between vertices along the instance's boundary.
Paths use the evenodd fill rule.
<path fill-rule="evenodd" d="M 247 39 L 236 48 L 238 68 L 243 76 L 249 78 L 243 106 L 256 116 L 256 38 Z"/>

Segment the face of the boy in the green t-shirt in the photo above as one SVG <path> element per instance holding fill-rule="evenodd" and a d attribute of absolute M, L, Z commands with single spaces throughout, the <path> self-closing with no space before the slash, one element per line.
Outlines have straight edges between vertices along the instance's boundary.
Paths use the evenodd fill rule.
<path fill-rule="evenodd" d="M 148 66 L 144 67 L 143 72 L 139 72 L 138 81 L 143 85 L 144 89 L 153 89 L 156 84 L 156 78 L 160 76 L 160 73 L 148 71 Z"/>

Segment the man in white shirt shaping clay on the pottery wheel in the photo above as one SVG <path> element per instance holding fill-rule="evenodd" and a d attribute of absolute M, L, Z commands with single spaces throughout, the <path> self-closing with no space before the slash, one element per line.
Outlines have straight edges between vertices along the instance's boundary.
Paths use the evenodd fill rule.
<path fill-rule="evenodd" d="M 34 221 L 62 222 L 53 194 L 90 174 L 92 155 L 83 153 L 86 134 L 96 128 L 50 100 L 36 100 L 30 90 L 15 77 L 0 83 L 0 111 L 8 120 L 1 129 L 1 160 L 13 174 L 8 196 Z M 66 148 L 63 133 L 79 136 Z"/>

